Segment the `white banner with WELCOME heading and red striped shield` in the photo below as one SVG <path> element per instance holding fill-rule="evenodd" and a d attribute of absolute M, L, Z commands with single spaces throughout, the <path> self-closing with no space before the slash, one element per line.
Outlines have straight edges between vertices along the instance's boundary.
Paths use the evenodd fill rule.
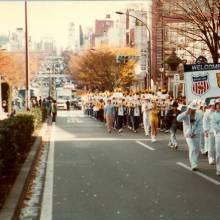
<path fill-rule="evenodd" d="M 220 96 L 220 64 L 184 65 L 187 103 L 194 99 Z"/>

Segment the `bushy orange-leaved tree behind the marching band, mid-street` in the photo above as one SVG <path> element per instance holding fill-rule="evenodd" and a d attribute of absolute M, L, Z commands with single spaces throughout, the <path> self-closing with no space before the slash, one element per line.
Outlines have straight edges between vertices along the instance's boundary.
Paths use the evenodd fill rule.
<path fill-rule="evenodd" d="M 118 49 L 88 50 L 82 56 L 72 55 L 69 70 L 81 86 L 89 90 L 112 91 L 116 87 L 129 86 L 134 80 L 135 61 L 117 64 Z"/>

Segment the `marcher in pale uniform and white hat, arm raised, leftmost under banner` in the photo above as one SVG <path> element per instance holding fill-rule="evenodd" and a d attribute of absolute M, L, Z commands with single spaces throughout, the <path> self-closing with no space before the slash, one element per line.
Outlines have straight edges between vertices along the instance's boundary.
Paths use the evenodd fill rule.
<path fill-rule="evenodd" d="M 177 116 L 177 121 L 183 122 L 183 131 L 189 148 L 189 160 L 192 170 L 198 169 L 200 152 L 200 135 L 202 132 L 202 115 L 197 112 L 198 105 L 192 102 L 187 111 Z"/>

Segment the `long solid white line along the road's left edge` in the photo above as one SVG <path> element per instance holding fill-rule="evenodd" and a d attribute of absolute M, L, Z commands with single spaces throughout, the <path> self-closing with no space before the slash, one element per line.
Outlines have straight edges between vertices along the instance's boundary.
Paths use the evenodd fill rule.
<path fill-rule="evenodd" d="M 54 131 L 55 125 L 52 125 L 50 146 L 47 160 L 46 178 L 41 205 L 40 220 L 51 220 L 53 211 L 53 177 L 54 177 Z"/>

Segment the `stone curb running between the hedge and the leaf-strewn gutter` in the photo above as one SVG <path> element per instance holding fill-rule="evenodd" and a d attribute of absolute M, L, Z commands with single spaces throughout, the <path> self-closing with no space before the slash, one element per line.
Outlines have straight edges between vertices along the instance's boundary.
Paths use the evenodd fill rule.
<path fill-rule="evenodd" d="M 35 161 L 39 152 L 39 146 L 42 143 L 43 130 L 46 128 L 46 124 L 43 124 L 39 136 L 36 138 L 31 151 L 28 154 L 18 177 L 9 193 L 6 202 L 0 211 L 0 219 L 4 220 L 16 220 L 18 218 L 19 210 L 21 208 L 22 201 L 25 196 L 25 192 L 28 186 L 29 179 L 31 178 L 31 171 L 35 165 Z"/>

